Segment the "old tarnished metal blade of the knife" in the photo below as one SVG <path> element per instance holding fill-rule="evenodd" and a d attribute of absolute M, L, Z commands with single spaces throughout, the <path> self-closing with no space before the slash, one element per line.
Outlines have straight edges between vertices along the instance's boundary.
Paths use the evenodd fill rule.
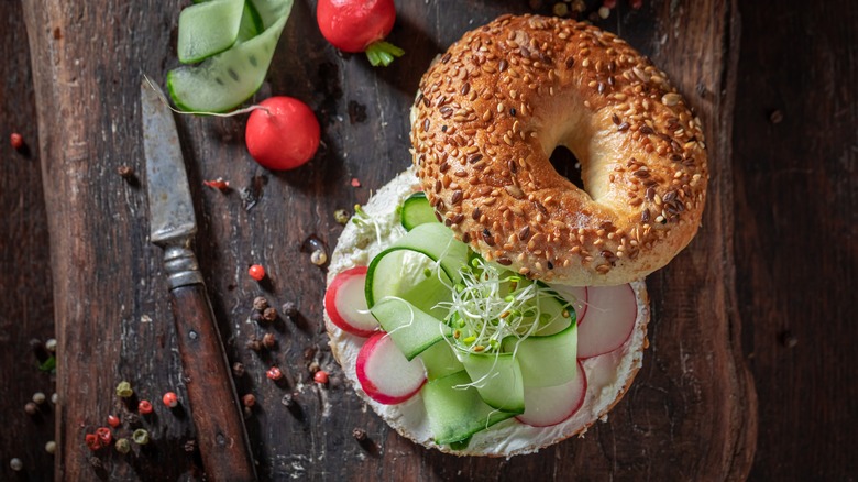
<path fill-rule="evenodd" d="M 182 146 L 163 94 L 145 78 L 140 86 L 143 147 L 146 158 L 151 241 L 164 244 L 197 232 L 194 202 Z"/>

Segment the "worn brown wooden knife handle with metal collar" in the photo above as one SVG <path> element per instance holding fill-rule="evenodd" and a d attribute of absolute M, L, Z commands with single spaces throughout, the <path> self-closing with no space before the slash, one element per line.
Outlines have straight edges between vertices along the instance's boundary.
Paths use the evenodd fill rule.
<path fill-rule="evenodd" d="M 196 267 L 194 253 L 182 251 L 185 261 Z M 170 305 L 202 465 L 208 480 L 254 481 L 256 469 L 229 361 L 206 286 L 199 272 L 193 271 L 184 272 L 185 282 L 188 277 L 198 282 L 178 286 L 175 280 L 182 280 L 182 273 L 169 273 Z"/>

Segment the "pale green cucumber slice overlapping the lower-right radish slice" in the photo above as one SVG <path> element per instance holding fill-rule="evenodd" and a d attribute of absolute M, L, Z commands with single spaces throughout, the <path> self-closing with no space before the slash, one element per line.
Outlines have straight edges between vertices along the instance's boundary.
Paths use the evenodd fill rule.
<path fill-rule="evenodd" d="M 518 360 L 525 387 L 561 385 L 575 379 L 578 324 L 570 318 L 566 321 L 566 328 L 559 332 L 532 335 L 521 341 L 506 337 L 501 343 L 504 352 Z"/>

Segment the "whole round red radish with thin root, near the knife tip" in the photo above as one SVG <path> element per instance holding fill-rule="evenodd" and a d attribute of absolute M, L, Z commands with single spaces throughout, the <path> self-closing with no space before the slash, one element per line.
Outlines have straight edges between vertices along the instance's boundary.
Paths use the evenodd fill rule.
<path fill-rule="evenodd" d="M 307 163 L 319 147 L 319 121 L 306 103 L 285 96 L 263 100 L 248 119 L 245 142 L 251 156 L 273 171 Z"/>

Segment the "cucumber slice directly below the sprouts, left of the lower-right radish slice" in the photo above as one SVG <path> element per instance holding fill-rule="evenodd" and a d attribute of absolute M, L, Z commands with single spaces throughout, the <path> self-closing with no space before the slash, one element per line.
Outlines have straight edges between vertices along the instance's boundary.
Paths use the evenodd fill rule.
<path fill-rule="evenodd" d="M 469 353 L 462 363 L 483 402 L 499 410 L 525 413 L 521 369 L 513 353 Z"/>

